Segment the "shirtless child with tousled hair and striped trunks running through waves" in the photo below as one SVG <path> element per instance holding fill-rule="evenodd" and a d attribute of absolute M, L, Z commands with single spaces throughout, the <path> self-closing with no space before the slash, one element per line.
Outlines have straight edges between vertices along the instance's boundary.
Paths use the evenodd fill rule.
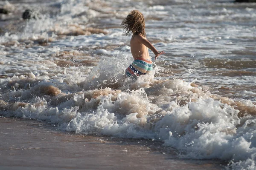
<path fill-rule="evenodd" d="M 145 75 L 153 69 L 148 48 L 154 52 L 155 60 L 159 55 L 165 54 L 165 52 L 158 52 L 157 49 L 146 39 L 145 20 L 141 12 L 132 10 L 122 21 L 121 26 L 124 26 L 126 36 L 132 34 L 130 44 L 134 62 L 126 69 L 125 74 L 127 77 Z"/>

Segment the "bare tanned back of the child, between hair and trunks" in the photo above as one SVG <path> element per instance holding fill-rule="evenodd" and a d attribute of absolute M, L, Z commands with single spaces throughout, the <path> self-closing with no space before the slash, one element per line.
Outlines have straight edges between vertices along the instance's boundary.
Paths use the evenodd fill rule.
<path fill-rule="evenodd" d="M 141 43 L 138 39 L 138 35 L 132 35 L 131 37 L 131 54 L 136 60 L 137 58 L 145 58 L 151 60 L 149 53 L 148 53 L 148 47 L 146 47 L 143 43 Z"/>

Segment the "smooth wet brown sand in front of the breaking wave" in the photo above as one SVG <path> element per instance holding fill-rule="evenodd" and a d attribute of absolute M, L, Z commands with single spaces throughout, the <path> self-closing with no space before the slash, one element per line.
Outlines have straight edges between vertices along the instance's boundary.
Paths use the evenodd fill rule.
<path fill-rule="evenodd" d="M 161 142 L 62 132 L 52 124 L 0 117 L 1 170 L 220 170 L 221 161 L 185 160 Z M 166 153 L 164 153 L 166 152 Z"/>

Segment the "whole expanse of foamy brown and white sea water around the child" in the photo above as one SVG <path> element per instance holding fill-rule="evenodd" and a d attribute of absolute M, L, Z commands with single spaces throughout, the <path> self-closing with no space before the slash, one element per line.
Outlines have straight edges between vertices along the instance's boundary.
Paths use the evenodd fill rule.
<path fill-rule="evenodd" d="M 256 165 L 256 3 L 229 0 L 10 0 L 0 6 L 0 115 L 81 134 L 163 141 L 180 158 Z M 22 20 L 25 9 L 36 19 Z M 154 72 L 120 27 L 145 16 Z"/>

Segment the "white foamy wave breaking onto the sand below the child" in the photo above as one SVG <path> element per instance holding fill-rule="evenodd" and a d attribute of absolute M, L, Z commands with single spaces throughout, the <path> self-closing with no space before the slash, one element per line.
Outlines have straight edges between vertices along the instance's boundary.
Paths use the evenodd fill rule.
<path fill-rule="evenodd" d="M 101 67 L 99 63 L 93 70 Z M 96 89 L 101 87 L 99 81 L 107 81 L 101 79 L 107 76 L 105 69 L 88 76 L 87 82 L 90 79 L 96 86 L 87 90 L 77 81 L 79 75 L 77 80 L 69 76 L 42 79 L 33 73 L 0 79 L 1 114 L 50 121 L 62 130 L 82 134 L 160 140 L 180 150 L 183 158 L 248 161 L 244 158 L 255 153 L 255 130 L 247 128 L 255 121 L 253 112 L 239 116 L 239 109 L 234 108 L 239 106 L 232 105 L 235 101 L 215 95 L 228 100 L 221 103 L 209 91 L 178 79 L 145 80 L 142 76 L 125 90 L 120 90 L 122 85 Z M 112 71 L 118 74 L 119 68 Z M 248 101 L 242 107 L 255 110 Z"/>

